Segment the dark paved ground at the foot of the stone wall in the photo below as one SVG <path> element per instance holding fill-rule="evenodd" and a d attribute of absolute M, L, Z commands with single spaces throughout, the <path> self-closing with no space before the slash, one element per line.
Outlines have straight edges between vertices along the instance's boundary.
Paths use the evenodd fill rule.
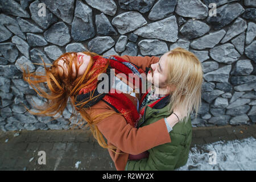
<path fill-rule="evenodd" d="M 107 150 L 86 130 L 0 131 L 0 170 L 115 170 Z M 256 125 L 193 128 L 195 144 L 256 138 Z M 39 151 L 46 164 L 38 164 Z"/>

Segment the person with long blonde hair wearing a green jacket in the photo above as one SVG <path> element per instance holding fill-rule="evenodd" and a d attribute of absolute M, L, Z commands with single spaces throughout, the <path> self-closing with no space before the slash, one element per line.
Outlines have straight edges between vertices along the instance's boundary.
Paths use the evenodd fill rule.
<path fill-rule="evenodd" d="M 144 104 L 140 113 L 143 119 L 139 121 L 139 126 L 152 125 L 173 114 L 175 108 L 182 108 L 180 114 L 185 117 L 172 128 L 172 142 L 151 148 L 141 158 L 130 155 L 126 170 L 173 170 L 184 166 L 188 160 L 192 140 L 190 114 L 196 111 L 197 115 L 201 105 L 201 63 L 192 52 L 175 48 L 164 53 L 158 63 L 151 64 L 151 68 L 152 72 L 147 76 L 155 88 L 142 96 Z M 152 93 L 163 97 L 148 101 L 147 96 Z"/>

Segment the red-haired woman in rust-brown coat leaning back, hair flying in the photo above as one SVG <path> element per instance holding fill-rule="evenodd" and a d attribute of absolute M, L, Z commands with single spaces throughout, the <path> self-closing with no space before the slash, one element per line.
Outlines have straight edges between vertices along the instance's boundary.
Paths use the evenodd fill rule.
<path fill-rule="evenodd" d="M 93 52 L 67 52 L 53 61 L 51 67 L 46 67 L 43 61 L 45 73 L 30 73 L 23 68 L 23 79 L 39 96 L 47 99 L 44 106 L 35 106 L 39 111 L 28 111 L 35 115 L 55 117 L 57 113 L 63 113 L 70 99 L 72 117 L 77 118 L 79 113 L 82 117 L 77 126 L 86 123 L 100 146 L 108 148 L 117 170 L 124 170 L 129 154 L 141 154 L 152 147 L 171 142 L 170 128 L 178 122 L 177 117 L 182 118 L 183 115 L 180 109 L 176 109 L 176 115 L 171 114 L 166 120 L 162 118 L 138 129 L 138 121 L 142 118 L 138 113 L 140 94 L 119 93 L 110 81 L 108 92 L 100 93 L 98 85 L 102 81 L 98 80 L 98 76 L 110 76 L 110 70 L 114 68 L 114 79 L 134 90 L 134 82 L 118 77 L 119 73 L 127 77 L 129 74 L 141 76 L 147 67 L 158 61 L 156 56 L 100 56 Z M 140 77 L 140 93 L 142 84 Z"/>

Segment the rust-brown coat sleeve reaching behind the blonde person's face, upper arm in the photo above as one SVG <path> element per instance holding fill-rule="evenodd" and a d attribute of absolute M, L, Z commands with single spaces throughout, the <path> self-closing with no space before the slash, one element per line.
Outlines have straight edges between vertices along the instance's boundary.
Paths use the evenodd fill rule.
<path fill-rule="evenodd" d="M 128 55 L 124 55 L 124 56 L 117 56 L 117 57 L 121 57 L 122 59 L 137 65 L 138 67 L 143 69 L 144 72 L 146 72 L 146 67 L 150 68 L 151 64 L 158 63 L 158 61 L 160 59 L 157 56 L 152 56 L 152 57 L 150 57 L 150 56 L 143 56 L 142 57 L 142 56 L 128 56 Z"/>

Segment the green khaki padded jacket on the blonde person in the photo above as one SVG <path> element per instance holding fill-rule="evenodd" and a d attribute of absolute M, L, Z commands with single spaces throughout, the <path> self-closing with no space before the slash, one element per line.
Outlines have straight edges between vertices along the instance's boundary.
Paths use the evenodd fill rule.
<path fill-rule="evenodd" d="M 151 102 L 152 103 L 152 102 Z M 144 115 L 139 121 L 139 127 L 150 125 L 159 119 L 166 118 L 168 113 L 168 96 L 160 100 L 156 105 L 146 106 Z M 188 122 L 177 123 L 170 131 L 171 142 L 156 146 L 148 150 L 148 158 L 140 160 L 128 160 L 128 171 L 174 170 L 184 166 L 188 160 L 188 153 L 192 140 L 192 125 L 189 115 Z"/>

